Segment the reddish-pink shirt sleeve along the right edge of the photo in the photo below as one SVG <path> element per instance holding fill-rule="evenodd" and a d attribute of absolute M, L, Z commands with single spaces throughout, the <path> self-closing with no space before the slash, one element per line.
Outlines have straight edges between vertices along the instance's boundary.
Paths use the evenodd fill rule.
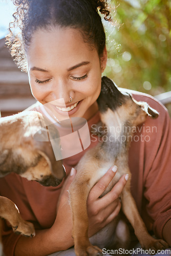
<path fill-rule="evenodd" d="M 160 115 L 149 136 L 152 141 L 145 145 L 143 184 L 145 210 L 153 220 L 155 235 L 162 238 L 163 227 L 171 218 L 171 122 L 166 109 L 155 104 Z"/>

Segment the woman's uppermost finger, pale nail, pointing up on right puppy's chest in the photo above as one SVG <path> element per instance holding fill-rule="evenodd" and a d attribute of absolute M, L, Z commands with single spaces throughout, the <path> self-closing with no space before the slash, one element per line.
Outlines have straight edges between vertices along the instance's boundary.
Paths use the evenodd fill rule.
<path fill-rule="evenodd" d="M 89 194 L 89 200 L 95 200 L 104 192 L 108 187 L 111 180 L 114 178 L 117 171 L 117 166 L 112 166 L 108 172 L 93 186 Z"/>

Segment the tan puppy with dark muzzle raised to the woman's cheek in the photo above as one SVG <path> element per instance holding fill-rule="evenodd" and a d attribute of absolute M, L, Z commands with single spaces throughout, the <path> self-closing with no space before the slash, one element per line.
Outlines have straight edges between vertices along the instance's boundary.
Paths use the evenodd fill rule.
<path fill-rule="evenodd" d="M 133 135 L 132 127 L 144 122 L 147 116 L 157 118 L 158 112 L 152 109 L 146 102 L 137 102 L 130 94 L 121 93 L 107 77 L 102 78 L 102 89 L 97 102 L 102 124 L 109 128 L 108 131 L 111 131 L 110 127 L 115 128 L 113 131 L 118 131 L 118 128 L 120 130 L 118 133 L 106 133 L 105 135 L 108 136 L 108 140 L 98 143 L 97 146 L 88 151 L 76 166 L 77 174 L 69 188 L 73 215 L 75 253 L 77 256 L 102 255 L 102 250 L 97 246 L 93 246 L 88 238 L 87 198 L 90 189 L 114 164 L 118 166 L 117 173 L 101 196 L 108 193 L 122 175 L 129 174 L 130 178 L 120 196 L 124 215 L 132 224 L 142 248 L 151 248 L 155 251 L 167 248 L 166 242 L 156 240 L 148 234 L 139 215 L 130 191 L 131 173 L 128 165 L 129 138 Z M 112 142 L 109 140 L 110 136 L 113 138 Z M 124 141 L 122 141 L 122 136 L 124 136 Z M 113 227 L 112 233 L 117 230 L 118 223 L 119 216 L 110 223 L 110 226 Z M 106 229 L 104 228 L 104 230 Z M 114 235 L 112 238 L 109 238 L 108 233 L 104 231 L 103 240 L 112 242 Z M 102 248 L 105 244 L 104 241 L 101 244 L 97 236 L 95 244 L 101 245 Z M 105 246 L 109 245 L 109 243 L 105 244 Z M 123 248 L 122 241 L 120 246 Z"/>

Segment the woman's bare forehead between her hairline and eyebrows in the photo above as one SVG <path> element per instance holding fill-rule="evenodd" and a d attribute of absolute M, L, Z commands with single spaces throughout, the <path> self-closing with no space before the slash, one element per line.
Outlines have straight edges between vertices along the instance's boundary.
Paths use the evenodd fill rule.
<path fill-rule="evenodd" d="M 29 62 L 51 62 L 67 61 L 72 67 L 74 58 L 78 62 L 89 61 L 98 55 L 96 48 L 83 40 L 78 29 L 73 28 L 51 28 L 50 30 L 39 29 L 32 37 L 27 51 Z"/>

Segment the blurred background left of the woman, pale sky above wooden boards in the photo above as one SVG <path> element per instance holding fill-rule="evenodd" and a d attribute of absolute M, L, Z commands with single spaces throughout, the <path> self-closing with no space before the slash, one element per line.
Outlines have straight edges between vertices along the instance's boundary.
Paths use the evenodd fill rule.
<path fill-rule="evenodd" d="M 1 116 L 8 116 L 35 103 L 28 75 L 21 72 L 11 58 L 5 45 L 9 22 L 13 20 L 15 8 L 11 0 L 0 0 L 0 111 Z"/>

